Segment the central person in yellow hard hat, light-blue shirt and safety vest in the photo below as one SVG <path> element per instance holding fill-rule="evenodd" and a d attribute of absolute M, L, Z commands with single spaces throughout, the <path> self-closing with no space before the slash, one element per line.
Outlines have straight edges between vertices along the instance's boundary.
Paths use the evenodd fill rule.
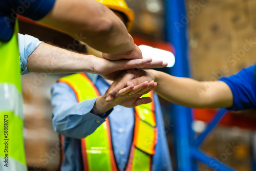
<path fill-rule="evenodd" d="M 108 7 L 124 23 L 125 18 L 133 23 L 123 0 L 100 2 L 111 3 Z M 160 103 L 151 91 L 156 83 L 144 82 L 130 94 L 126 92 L 134 86 L 128 86 L 108 103 L 104 93 L 111 83 L 78 73 L 53 85 L 52 120 L 61 134 L 61 170 L 172 170 Z"/>

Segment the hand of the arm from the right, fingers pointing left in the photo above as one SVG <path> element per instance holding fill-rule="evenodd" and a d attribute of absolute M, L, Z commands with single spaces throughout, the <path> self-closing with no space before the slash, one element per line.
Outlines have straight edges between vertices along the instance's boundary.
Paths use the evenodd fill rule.
<path fill-rule="evenodd" d="M 132 85 L 134 85 L 134 88 L 129 93 L 136 94 L 140 89 L 140 84 L 154 80 L 154 70 L 127 70 L 112 83 L 104 97 L 106 101 L 112 101 L 118 92 L 125 89 L 126 86 L 130 87 Z"/>

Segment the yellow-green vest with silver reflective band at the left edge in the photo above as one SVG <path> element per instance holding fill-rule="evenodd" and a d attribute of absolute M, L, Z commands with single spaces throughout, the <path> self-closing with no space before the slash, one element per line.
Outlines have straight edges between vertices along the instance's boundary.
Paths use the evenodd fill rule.
<path fill-rule="evenodd" d="M 27 170 L 23 141 L 18 22 L 10 41 L 0 41 L 0 170 Z M 8 167 L 7 167 L 8 166 Z"/>

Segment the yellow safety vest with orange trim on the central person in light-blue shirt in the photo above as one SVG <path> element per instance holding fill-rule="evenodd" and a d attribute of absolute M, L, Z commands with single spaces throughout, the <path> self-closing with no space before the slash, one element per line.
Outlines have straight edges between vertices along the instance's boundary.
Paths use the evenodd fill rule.
<path fill-rule="evenodd" d="M 98 89 L 84 73 L 69 75 L 59 79 L 67 83 L 75 92 L 78 102 L 100 96 Z M 153 92 L 147 94 L 153 97 Z M 135 108 L 135 126 L 130 157 L 125 170 L 151 170 L 152 156 L 155 154 L 157 127 L 154 102 Z M 102 123 L 93 134 L 81 139 L 84 170 L 118 170 L 112 148 L 109 119 Z"/>

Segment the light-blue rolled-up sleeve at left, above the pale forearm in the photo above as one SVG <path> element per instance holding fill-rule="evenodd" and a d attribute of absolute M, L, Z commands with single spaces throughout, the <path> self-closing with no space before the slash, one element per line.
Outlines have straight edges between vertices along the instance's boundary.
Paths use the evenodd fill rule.
<path fill-rule="evenodd" d="M 19 65 L 22 75 L 28 74 L 28 57 L 43 41 L 30 35 L 18 34 Z"/>

